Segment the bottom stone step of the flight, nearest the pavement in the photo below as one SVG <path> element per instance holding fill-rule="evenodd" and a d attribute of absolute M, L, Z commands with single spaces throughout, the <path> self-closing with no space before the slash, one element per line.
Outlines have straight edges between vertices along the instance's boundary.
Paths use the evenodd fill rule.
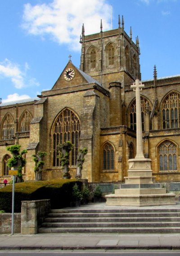
<path fill-rule="evenodd" d="M 180 227 L 40 228 L 39 233 L 180 233 Z"/>

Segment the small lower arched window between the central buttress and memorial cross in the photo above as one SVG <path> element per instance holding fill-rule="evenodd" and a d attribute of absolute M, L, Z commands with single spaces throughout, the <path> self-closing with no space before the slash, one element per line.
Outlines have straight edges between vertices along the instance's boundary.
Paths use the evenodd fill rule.
<path fill-rule="evenodd" d="M 103 147 L 103 170 L 114 169 L 114 149 L 110 143 Z"/>

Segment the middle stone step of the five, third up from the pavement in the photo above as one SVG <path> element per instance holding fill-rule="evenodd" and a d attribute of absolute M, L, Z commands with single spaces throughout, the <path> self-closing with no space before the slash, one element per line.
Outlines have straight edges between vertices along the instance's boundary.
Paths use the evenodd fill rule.
<path fill-rule="evenodd" d="M 74 217 L 74 218 L 45 218 L 45 222 L 134 222 L 134 221 L 138 221 L 138 222 L 147 222 L 147 217 L 106 217 L 106 218 L 102 218 L 102 217 L 97 217 L 97 218 L 85 218 L 85 217 Z M 161 222 L 180 222 L 180 217 L 150 217 L 148 218 L 148 222 L 157 222 L 157 221 L 161 221 Z"/>

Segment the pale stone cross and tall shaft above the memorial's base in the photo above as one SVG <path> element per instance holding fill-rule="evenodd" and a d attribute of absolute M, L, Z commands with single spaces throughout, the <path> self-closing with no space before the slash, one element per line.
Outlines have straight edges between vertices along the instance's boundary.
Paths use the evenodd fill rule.
<path fill-rule="evenodd" d="M 130 88 L 135 91 L 135 104 L 136 104 L 136 156 L 135 158 L 144 158 L 143 155 L 143 134 L 142 134 L 142 120 L 141 120 L 141 104 L 140 104 L 140 91 L 144 84 L 136 79 Z"/>

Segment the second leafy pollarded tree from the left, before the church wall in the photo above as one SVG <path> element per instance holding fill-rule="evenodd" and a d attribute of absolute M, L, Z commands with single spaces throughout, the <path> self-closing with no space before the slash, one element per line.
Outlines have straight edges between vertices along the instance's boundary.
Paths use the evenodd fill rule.
<path fill-rule="evenodd" d="M 45 162 L 43 161 L 45 155 L 47 155 L 47 152 L 43 152 L 43 151 L 38 151 L 36 155 L 32 155 L 34 158 L 33 160 L 35 161 L 35 179 L 36 180 L 42 180 L 42 171 L 43 171 L 43 166 L 45 164 Z"/>

